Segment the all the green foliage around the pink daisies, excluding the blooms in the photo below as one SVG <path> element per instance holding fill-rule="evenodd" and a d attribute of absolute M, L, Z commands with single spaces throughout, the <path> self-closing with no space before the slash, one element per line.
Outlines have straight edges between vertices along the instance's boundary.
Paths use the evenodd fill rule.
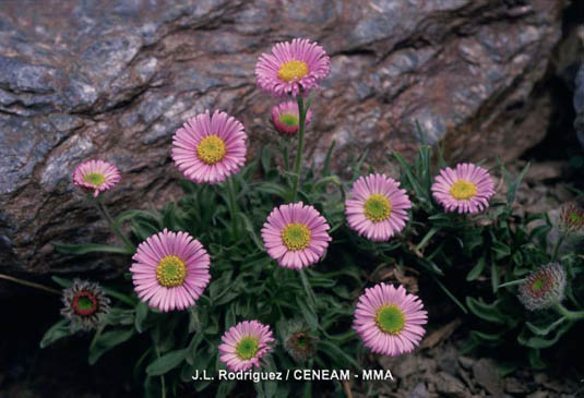
<path fill-rule="evenodd" d="M 195 237 L 211 255 L 212 279 L 195 306 L 171 314 L 159 313 L 140 302 L 129 274 L 108 286 L 106 293 L 115 300 L 115 305 L 93 337 L 90 363 L 132 339 L 141 350 L 135 355 L 134 374 L 136 381 L 144 381 L 146 396 L 158 396 L 160 388 L 175 393 L 180 388 L 198 391 L 212 388 L 217 396 L 225 397 L 236 382 L 191 382 L 191 376 L 203 370 L 214 375 L 216 370 L 224 369 L 217 350 L 223 333 L 237 322 L 259 319 L 272 325 L 278 341 L 267 360 L 267 370 L 360 369 L 363 348 L 351 329 L 355 300 L 378 266 L 402 269 L 407 266 L 420 272 L 420 278 L 436 282 L 444 294 L 439 300 L 452 300 L 461 312 L 485 322 L 478 323 L 480 330 L 470 333 L 469 349 L 477 345 L 500 345 L 514 336 L 514 341 L 528 348 L 532 363 L 540 365 L 539 349 L 558 341 L 572 322 L 560 323 L 546 314 L 532 323 L 532 315 L 515 296 L 513 282 L 551 260 L 546 250 L 549 219 L 544 215 L 521 219 L 513 214 L 515 192 L 527 170 L 516 180 L 505 172 L 506 201 L 491 203 L 488 212 L 474 216 L 445 214 L 430 191 L 438 168 L 445 166 L 441 154 L 437 156 L 436 167 L 427 146 L 419 149 L 413 164 L 392 154 L 390 161 L 396 160 L 401 166 L 402 186 L 409 193 L 413 209 L 403 233 L 390 242 L 374 243 L 349 230 L 344 216 L 345 192 L 360 174 L 367 154 L 355 159 L 350 181 L 343 181 L 330 172 L 333 146 L 320 172 L 314 168 L 303 171 L 298 192 L 299 200 L 313 205 L 326 218 L 333 238 L 323 261 L 305 274 L 277 266 L 265 253 L 259 236 L 274 206 L 290 201 L 288 186 L 294 177 L 275 165 L 270 147 L 264 147 L 253 162 L 234 177 L 239 207 L 235 229 L 227 190 L 186 180 L 181 181 L 184 195 L 177 203 L 169 203 L 162 210 L 129 210 L 118 216 L 117 226 L 130 222 L 134 243 L 164 228 Z M 281 155 L 287 170 L 286 148 Z M 544 224 L 529 228 L 537 219 Z M 126 248 L 92 243 L 60 244 L 57 249 L 70 255 L 132 254 Z M 560 260 L 571 277 L 582 269 L 575 254 L 565 254 Z M 55 281 L 63 287 L 70 285 L 60 278 Z M 485 289 L 486 284 L 490 289 Z M 574 299 L 570 292 L 569 297 Z M 577 306 L 575 301 L 573 304 Z M 320 340 L 317 354 L 307 363 L 295 363 L 282 345 L 287 323 L 294 319 L 302 319 Z M 67 324 L 59 322 L 47 331 L 41 347 L 69 334 Z M 308 397 L 312 388 L 310 383 L 273 381 L 254 387 L 265 397 L 300 390 Z M 342 386 L 336 388 L 341 390 Z"/>

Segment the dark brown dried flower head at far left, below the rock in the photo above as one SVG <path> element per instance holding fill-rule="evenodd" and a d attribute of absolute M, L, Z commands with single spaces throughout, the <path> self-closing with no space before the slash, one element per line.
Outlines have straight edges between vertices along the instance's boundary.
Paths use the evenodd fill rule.
<path fill-rule="evenodd" d="M 71 330 L 92 330 L 97 328 L 103 316 L 109 312 L 109 299 L 99 285 L 75 279 L 73 285 L 63 289 L 61 315 L 71 319 Z"/>

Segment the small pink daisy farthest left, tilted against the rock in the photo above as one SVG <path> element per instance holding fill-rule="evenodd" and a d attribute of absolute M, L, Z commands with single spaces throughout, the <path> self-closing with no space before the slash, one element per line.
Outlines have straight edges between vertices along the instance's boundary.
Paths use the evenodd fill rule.
<path fill-rule="evenodd" d="M 104 160 L 84 161 L 73 172 L 73 183 L 85 191 L 93 191 L 94 197 L 116 185 L 120 179 L 116 166 Z"/>

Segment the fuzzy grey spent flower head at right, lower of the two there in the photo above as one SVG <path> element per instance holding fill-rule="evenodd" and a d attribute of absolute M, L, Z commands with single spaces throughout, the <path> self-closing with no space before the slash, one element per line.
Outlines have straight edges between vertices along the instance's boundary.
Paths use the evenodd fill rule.
<path fill-rule="evenodd" d="M 545 310 L 561 303 L 565 289 L 565 270 L 550 263 L 531 273 L 520 285 L 519 298 L 527 310 Z"/>

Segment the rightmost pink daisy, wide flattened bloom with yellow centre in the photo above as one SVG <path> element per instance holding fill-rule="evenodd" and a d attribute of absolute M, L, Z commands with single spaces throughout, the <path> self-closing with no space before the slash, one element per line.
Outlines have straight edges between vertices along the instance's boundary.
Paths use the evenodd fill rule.
<path fill-rule="evenodd" d="M 446 167 L 432 184 L 432 195 L 446 212 L 478 213 L 489 207 L 494 184 L 489 172 L 473 164 Z"/>

